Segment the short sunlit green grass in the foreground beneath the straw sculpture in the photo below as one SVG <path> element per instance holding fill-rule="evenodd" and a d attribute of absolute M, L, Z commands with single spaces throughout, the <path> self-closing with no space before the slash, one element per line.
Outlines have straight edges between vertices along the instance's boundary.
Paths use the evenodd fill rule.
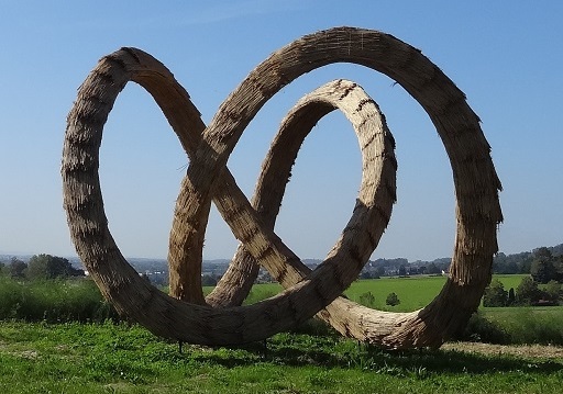
<path fill-rule="evenodd" d="M 559 393 L 563 359 L 383 351 L 279 334 L 246 349 L 185 347 L 126 325 L 0 323 L 10 393 Z"/>

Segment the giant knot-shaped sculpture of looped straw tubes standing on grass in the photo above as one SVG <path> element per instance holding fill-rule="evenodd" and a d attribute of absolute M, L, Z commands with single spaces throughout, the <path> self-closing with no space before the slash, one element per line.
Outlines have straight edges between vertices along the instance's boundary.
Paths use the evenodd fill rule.
<path fill-rule="evenodd" d="M 347 80 L 303 97 L 282 122 L 263 164 L 252 204 L 227 160 L 262 105 L 302 74 L 353 63 L 401 85 L 427 111 L 450 157 L 456 196 L 456 238 L 444 288 L 411 313 L 371 309 L 341 296 L 375 250 L 395 202 L 394 139 L 374 100 Z M 98 177 L 103 125 L 129 81 L 145 88 L 189 157 L 169 236 L 170 294 L 139 277 L 115 245 Z M 334 247 L 311 271 L 274 233 L 285 184 L 303 138 L 333 110 L 352 123 L 362 151 L 356 204 Z M 418 49 L 391 35 L 338 27 L 303 36 L 258 65 L 206 127 L 186 90 L 151 55 L 135 48 L 100 59 L 68 115 L 62 176 L 64 206 L 78 255 L 115 308 L 155 335 L 201 345 L 265 339 L 317 316 L 338 331 L 387 348 L 439 347 L 462 328 L 490 281 L 501 221 L 500 182 L 479 120 L 455 85 Z M 214 203 L 240 247 L 207 297 L 201 290 L 203 235 Z M 241 306 L 266 268 L 285 290 Z"/>

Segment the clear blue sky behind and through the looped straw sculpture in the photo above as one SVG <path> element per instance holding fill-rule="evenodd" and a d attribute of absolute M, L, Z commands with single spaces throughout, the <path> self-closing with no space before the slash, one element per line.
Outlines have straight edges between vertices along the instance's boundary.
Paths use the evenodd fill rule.
<path fill-rule="evenodd" d="M 163 61 L 206 123 L 272 52 L 333 26 L 380 30 L 420 48 L 483 121 L 504 191 L 499 247 L 563 243 L 563 2 L 552 1 L 0 1 L 0 254 L 74 256 L 59 176 L 66 115 L 97 60 L 135 46 Z M 360 66 L 310 72 L 276 94 L 229 168 L 252 194 L 279 122 L 307 92 L 355 80 L 397 140 L 398 202 L 373 258 L 451 256 L 451 168 L 430 120 L 399 86 Z M 100 178 L 110 229 L 130 257 L 166 257 L 187 157 L 150 95 L 131 83 L 110 114 Z M 322 258 L 347 222 L 360 153 L 342 114 L 319 122 L 298 157 L 276 232 L 301 258 Z M 236 241 L 212 212 L 205 258 Z"/>

